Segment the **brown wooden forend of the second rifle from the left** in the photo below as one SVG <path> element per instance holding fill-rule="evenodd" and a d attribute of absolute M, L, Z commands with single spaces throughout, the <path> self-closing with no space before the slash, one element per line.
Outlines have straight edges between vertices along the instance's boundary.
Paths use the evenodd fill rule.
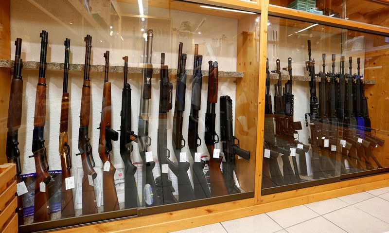
<path fill-rule="evenodd" d="M 45 126 L 46 120 L 46 79 L 40 77 L 36 86 L 34 126 Z"/>

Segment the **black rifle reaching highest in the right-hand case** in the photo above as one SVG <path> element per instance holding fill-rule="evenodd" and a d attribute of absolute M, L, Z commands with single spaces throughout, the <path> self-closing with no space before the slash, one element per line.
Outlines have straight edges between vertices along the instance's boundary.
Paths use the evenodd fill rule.
<path fill-rule="evenodd" d="M 305 66 L 307 71 L 309 72 L 309 76 L 311 76 L 311 81 L 309 81 L 309 93 L 310 93 L 310 101 L 309 101 L 309 115 L 310 118 L 310 129 L 311 136 L 308 138 L 309 143 L 312 147 L 312 161 L 313 161 L 313 178 L 327 178 L 327 174 L 323 172 L 320 163 L 320 153 L 319 146 L 321 143 L 321 125 L 318 116 L 318 97 L 316 95 L 316 73 L 315 73 L 315 60 L 312 60 L 311 53 L 311 40 L 308 40 L 308 61 L 305 62 Z M 307 119 L 307 114 L 305 114 L 305 119 Z M 308 126 L 308 121 L 305 120 L 305 125 Z"/>

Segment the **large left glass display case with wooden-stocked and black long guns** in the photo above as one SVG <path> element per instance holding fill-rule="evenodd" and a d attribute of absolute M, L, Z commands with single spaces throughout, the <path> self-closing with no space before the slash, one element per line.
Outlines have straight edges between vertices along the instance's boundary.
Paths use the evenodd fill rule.
<path fill-rule="evenodd" d="M 253 197 L 259 21 L 183 1 L 11 0 L 1 132 L 19 230 Z"/>

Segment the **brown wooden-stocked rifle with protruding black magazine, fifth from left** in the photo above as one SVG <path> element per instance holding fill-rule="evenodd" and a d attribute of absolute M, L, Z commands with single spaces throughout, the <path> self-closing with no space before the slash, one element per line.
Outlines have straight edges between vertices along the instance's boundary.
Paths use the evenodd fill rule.
<path fill-rule="evenodd" d="M 99 156 L 104 164 L 104 212 L 108 212 L 120 209 L 114 180 L 116 168 L 111 163 L 111 141 L 118 141 L 119 133 L 111 128 L 111 83 L 108 82 L 109 51 L 104 53 L 104 58 L 106 65 L 104 67 L 103 105 L 101 107 L 100 127 L 97 129 L 100 129 Z"/>

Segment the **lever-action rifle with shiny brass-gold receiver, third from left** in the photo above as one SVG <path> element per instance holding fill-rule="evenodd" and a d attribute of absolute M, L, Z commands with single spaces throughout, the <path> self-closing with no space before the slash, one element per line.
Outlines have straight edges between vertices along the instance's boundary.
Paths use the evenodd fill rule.
<path fill-rule="evenodd" d="M 70 54 L 70 39 L 65 40 L 65 62 L 64 62 L 64 83 L 62 87 L 62 102 L 61 102 L 61 123 L 59 125 L 59 155 L 61 158 L 62 169 L 62 197 L 61 197 L 61 218 L 73 217 L 74 202 L 73 191 L 66 190 L 66 178 L 71 177 L 71 155 L 68 140 L 68 125 L 69 125 L 69 93 L 68 93 L 68 77 L 69 77 L 69 54 Z"/>

